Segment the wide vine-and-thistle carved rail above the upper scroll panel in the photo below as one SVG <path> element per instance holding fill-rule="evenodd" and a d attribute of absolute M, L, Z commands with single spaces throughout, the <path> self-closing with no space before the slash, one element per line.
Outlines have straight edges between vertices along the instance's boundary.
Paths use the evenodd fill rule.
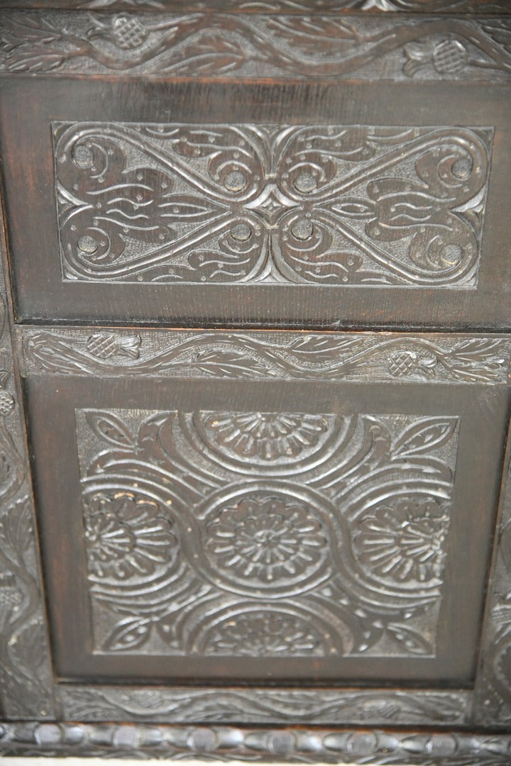
<path fill-rule="evenodd" d="M 13 73 L 493 81 L 511 72 L 505 17 L 4 11 L 0 33 L 0 69 Z M 421 67 L 408 66 L 418 55 Z"/>

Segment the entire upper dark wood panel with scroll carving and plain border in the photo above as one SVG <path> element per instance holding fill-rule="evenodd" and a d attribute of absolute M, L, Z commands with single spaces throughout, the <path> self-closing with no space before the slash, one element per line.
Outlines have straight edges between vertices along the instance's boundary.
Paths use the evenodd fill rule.
<path fill-rule="evenodd" d="M 446 85 L 426 119 L 422 90 L 404 99 L 392 83 L 365 83 L 369 112 L 352 84 L 133 87 L 126 103 L 111 84 L 99 110 L 92 81 L 75 81 L 71 100 L 27 80 L 21 101 L 5 83 L 25 319 L 509 326 L 511 223 L 498 205 L 511 107 L 498 89 L 468 109 Z"/>

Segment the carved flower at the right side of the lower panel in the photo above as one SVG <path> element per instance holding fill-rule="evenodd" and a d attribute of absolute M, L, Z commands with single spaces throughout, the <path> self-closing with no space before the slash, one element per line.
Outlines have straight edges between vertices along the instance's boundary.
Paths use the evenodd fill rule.
<path fill-rule="evenodd" d="M 403 582 L 441 578 L 449 519 L 434 499 L 400 499 L 359 522 L 355 549 L 364 568 Z"/>

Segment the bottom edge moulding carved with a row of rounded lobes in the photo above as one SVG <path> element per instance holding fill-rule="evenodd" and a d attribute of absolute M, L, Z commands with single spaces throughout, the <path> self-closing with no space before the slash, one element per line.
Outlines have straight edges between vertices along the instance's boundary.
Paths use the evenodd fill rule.
<path fill-rule="evenodd" d="M 2 755 L 509 766 L 510 735 L 141 724 L 0 724 Z"/>

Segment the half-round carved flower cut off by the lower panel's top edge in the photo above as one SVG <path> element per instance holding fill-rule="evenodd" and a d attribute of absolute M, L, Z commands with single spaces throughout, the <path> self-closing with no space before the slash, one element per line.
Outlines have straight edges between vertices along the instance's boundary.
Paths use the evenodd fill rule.
<path fill-rule="evenodd" d="M 322 415 L 277 412 L 218 414 L 206 418 L 217 440 L 239 457 L 296 457 L 315 447 L 328 422 Z"/>

